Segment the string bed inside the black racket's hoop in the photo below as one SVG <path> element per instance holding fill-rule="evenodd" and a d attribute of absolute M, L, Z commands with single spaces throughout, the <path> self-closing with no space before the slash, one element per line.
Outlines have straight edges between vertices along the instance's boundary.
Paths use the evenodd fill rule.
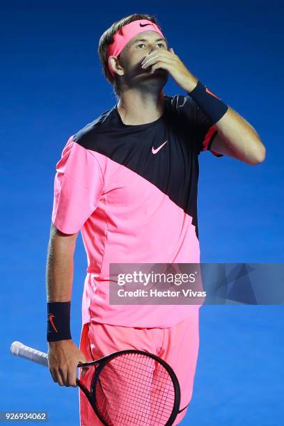
<path fill-rule="evenodd" d="M 95 383 L 97 409 L 108 425 L 166 425 L 175 403 L 167 370 L 143 354 L 113 358 Z"/>

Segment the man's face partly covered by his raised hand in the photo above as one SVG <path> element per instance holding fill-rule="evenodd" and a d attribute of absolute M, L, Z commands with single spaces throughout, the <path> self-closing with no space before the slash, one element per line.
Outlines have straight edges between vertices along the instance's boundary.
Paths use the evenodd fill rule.
<path fill-rule="evenodd" d="M 141 62 L 151 52 L 168 49 L 166 40 L 156 31 L 143 31 L 130 40 L 120 54 L 120 65 L 124 74 L 122 80 L 127 86 L 143 84 L 147 87 L 162 88 L 168 80 L 168 71 L 159 68 L 150 74 L 151 67 L 141 68 Z"/>

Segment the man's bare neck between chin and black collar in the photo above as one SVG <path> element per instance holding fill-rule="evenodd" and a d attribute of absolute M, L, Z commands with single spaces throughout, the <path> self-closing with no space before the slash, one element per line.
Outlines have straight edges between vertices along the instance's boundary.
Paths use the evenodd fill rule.
<path fill-rule="evenodd" d="M 143 93 L 129 88 L 121 93 L 117 109 L 125 125 L 152 123 L 164 113 L 164 92 Z"/>

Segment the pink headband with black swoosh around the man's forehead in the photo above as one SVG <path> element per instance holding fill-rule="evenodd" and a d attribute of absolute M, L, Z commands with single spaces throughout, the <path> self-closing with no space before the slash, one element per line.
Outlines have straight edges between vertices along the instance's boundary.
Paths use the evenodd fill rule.
<path fill-rule="evenodd" d="M 161 30 L 158 28 L 158 26 L 154 24 L 154 22 L 148 21 L 148 19 L 141 19 L 139 21 L 130 22 L 130 24 L 124 25 L 113 36 L 113 43 L 109 45 L 107 49 L 107 60 L 109 59 L 109 56 L 118 56 L 125 48 L 127 43 L 137 34 L 142 33 L 143 31 L 156 31 L 157 33 L 161 34 L 162 37 L 164 37 L 164 34 L 161 33 Z M 111 70 L 110 66 L 109 71 L 111 72 L 111 75 L 113 75 L 113 70 Z"/>

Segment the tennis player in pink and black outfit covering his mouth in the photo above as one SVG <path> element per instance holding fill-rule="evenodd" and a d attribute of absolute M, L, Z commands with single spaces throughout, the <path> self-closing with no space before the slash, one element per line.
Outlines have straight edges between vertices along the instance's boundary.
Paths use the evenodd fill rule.
<path fill-rule="evenodd" d="M 265 146 L 168 47 L 155 17 L 115 22 L 98 53 L 118 102 L 72 134 L 56 164 L 47 258 L 49 370 L 59 385 L 76 386 L 79 362 L 120 349 L 157 354 L 180 382 L 178 425 L 193 391 L 200 305 L 111 305 L 109 264 L 200 262 L 198 155 L 210 151 L 253 165 L 264 161 Z M 182 94 L 164 93 L 169 76 Z M 78 348 L 70 302 L 80 230 L 88 269 Z M 81 426 L 102 424 L 81 390 L 79 407 Z"/>

